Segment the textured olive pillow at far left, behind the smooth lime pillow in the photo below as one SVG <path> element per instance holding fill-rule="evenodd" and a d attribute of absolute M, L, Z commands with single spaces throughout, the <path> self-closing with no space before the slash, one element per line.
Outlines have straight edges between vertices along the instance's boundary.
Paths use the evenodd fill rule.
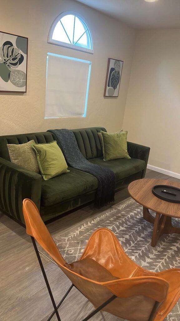
<path fill-rule="evenodd" d="M 9 156 L 12 163 L 20 165 L 32 172 L 39 173 L 39 166 L 35 151 L 32 149 L 34 140 L 24 144 L 7 144 Z"/>

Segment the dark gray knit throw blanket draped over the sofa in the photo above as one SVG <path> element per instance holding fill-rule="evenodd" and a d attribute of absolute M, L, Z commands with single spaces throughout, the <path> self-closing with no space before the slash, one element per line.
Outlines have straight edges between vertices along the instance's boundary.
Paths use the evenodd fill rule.
<path fill-rule="evenodd" d="M 68 129 L 48 130 L 56 137 L 66 162 L 69 166 L 94 175 L 98 179 L 98 188 L 94 205 L 99 207 L 114 201 L 116 178 L 114 172 L 108 168 L 92 164 L 82 155 L 74 133 Z"/>

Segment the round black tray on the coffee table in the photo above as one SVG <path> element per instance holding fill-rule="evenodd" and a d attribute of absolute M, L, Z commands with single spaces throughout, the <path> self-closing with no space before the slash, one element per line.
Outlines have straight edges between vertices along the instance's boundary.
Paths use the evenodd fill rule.
<path fill-rule="evenodd" d="M 176 195 L 163 193 L 162 189 L 166 189 L 170 192 L 176 193 Z M 169 185 L 155 185 L 154 187 L 152 187 L 152 193 L 161 200 L 171 203 L 180 203 L 180 188 Z"/>

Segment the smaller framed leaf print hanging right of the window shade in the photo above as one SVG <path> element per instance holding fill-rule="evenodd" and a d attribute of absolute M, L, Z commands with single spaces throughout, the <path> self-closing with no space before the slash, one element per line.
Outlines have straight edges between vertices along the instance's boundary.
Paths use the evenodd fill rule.
<path fill-rule="evenodd" d="M 123 61 L 108 58 L 104 97 L 118 97 Z"/>

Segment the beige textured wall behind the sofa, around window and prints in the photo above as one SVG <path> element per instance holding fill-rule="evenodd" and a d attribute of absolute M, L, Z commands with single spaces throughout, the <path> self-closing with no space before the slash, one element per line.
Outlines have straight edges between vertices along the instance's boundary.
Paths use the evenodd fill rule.
<path fill-rule="evenodd" d="M 27 93 L 0 93 L 0 134 L 88 126 L 105 126 L 109 131 L 121 128 L 135 31 L 76 1 L 16 0 L 14 5 L 12 0 L 0 0 L 0 3 L 0 30 L 29 38 Z M 94 40 L 93 55 L 47 44 L 53 20 L 68 10 L 80 13 L 90 27 Z M 44 119 L 47 52 L 92 61 L 86 118 Z M 118 99 L 103 98 L 108 57 L 124 60 Z"/>

